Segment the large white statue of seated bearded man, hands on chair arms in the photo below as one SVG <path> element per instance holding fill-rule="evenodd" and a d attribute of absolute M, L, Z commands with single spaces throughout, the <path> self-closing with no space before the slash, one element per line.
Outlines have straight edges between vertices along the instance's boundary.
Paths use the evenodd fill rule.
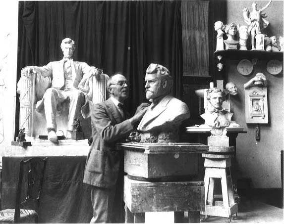
<path fill-rule="evenodd" d="M 83 118 L 89 114 L 88 95 L 93 91 L 89 86 L 89 79 L 101 72 L 85 62 L 73 61 L 75 43 L 70 38 L 62 40 L 60 47 L 63 52 L 60 61 L 52 61 L 43 67 L 27 66 L 21 71 L 22 77 L 29 78 L 31 74 L 36 77 L 36 94 L 39 100 L 36 111 L 44 111 L 48 139 L 53 142 L 57 141 L 57 108 L 66 100 L 70 102 L 66 138 L 71 138 L 74 119 L 78 118 L 80 111 Z M 19 86 L 18 84 L 18 92 L 21 91 Z"/>

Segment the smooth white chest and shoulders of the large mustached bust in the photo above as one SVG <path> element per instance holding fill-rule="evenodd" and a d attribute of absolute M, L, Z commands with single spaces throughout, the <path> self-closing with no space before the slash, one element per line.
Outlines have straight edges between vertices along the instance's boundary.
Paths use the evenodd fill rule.
<path fill-rule="evenodd" d="M 149 132 L 173 128 L 190 117 L 187 105 L 171 95 L 166 95 L 160 102 L 154 106 L 152 103 L 143 116 L 137 130 L 140 132 Z"/>

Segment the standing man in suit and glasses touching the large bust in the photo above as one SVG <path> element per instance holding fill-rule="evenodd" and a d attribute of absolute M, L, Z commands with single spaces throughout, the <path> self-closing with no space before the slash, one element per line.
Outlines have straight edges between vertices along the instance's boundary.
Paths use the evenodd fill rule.
<path fill-rule="evenodd" d="M 129 94 L 128 83 L 120 74 L 109 79 L 108 90 L 111 97 L 95 104 L 91 110 L 93 142 L 83 179 L 84 183 L 92 185 L 94 216 L 91 223 L 124 222 L 112 217 L 115 207 L 123 211 L 123 151 L 115 150 L 115 143 L 124 141 L 149 106 L 142 103 L 129 118 L 123 109 Z"/>

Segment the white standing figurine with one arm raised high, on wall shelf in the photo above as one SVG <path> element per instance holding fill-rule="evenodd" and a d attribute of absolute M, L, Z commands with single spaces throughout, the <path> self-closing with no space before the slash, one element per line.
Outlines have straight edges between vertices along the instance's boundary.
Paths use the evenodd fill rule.
<path fill-rule="evenodd" d="M 255 50 L 255 36 L 261 34 L 261 31 L 269 25 L 265 13 L 262 13 L 271 3 L 271 0 L 261 9 L 257 10 L 257 3 L 251 4 L 252 11 L 247 8 L 243 9 L 244 21 L 249 25 L 248 32 L 251 34 L 251 49 Z"/>

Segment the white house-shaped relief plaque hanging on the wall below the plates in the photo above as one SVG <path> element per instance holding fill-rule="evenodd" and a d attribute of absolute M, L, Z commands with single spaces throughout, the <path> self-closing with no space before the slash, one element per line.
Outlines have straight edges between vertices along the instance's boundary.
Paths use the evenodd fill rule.
<path fill-rule="evenodd" d="M 268 124 L 267 80 L 257 73 L 245 83 L 245 122 L 247 124 Z"/>

